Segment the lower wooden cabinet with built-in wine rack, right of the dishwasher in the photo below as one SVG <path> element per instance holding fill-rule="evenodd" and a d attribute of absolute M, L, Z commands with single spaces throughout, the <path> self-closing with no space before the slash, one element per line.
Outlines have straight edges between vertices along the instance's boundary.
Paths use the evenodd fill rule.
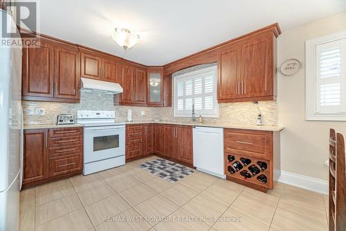
<path fill-rule="evenodd" d="M 280 173 L 280 133 L 224 129 L 224 158 L 225 174 L 228 180 L 260 191 L 272 189 L 273 182 L 278 178 L 274 172 Z M 237 165 L 237 163 L 240 164 L 239 171 L 235 169 L 234 164 Z M 263 169 L 262 166 L 264 166 Z M 242 172 L 247 171 L 252 174 L 251 171 L 254 168 L 259 171 L 250 178 L 244 178 Z M 266 181 L 260 181 L 262 178 Z"/>

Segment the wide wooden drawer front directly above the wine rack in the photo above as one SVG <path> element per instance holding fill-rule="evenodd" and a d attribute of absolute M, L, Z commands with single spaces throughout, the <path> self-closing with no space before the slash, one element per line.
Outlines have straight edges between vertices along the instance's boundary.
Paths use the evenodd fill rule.
<path fill-rule="evenodd" d="M 272 137 L 272 132 L 225 129 L 224 148 L 225 151 L 236 149 L 267 155 L 272 151 Z"/>

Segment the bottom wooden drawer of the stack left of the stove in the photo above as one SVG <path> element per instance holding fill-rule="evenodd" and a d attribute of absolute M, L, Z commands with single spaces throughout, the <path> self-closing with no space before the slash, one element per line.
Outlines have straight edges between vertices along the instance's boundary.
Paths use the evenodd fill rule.
<path fill-rule="evenodd" d="M 64 158 L 53 158 L 49 160 L 49 176 L 59 176 L 82 170 L 82 157 L 71 156 Z"/>

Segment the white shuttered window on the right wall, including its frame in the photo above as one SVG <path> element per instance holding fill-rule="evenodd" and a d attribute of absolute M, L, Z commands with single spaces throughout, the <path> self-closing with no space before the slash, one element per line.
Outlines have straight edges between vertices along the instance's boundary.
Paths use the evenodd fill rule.
<path fill-rule="evenodd" d="M 307 42 L 307 119 L 346 120 L 346 32 Z"/>

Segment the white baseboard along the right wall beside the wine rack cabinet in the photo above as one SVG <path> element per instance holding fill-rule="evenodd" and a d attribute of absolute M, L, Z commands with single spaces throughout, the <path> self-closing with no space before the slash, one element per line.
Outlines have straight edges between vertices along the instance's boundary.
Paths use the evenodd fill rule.
<path fill-rule="evenodd" d="M 325 195 L 327 195 L 329 191 L 327 180 L 311 178 L 310 176 L 304 176 L 297 173 L 290 173 L 288 171 L 281 171 L 281 176 L 277 181 L 298 188 L 316 191 L 320 194 Z"/>

